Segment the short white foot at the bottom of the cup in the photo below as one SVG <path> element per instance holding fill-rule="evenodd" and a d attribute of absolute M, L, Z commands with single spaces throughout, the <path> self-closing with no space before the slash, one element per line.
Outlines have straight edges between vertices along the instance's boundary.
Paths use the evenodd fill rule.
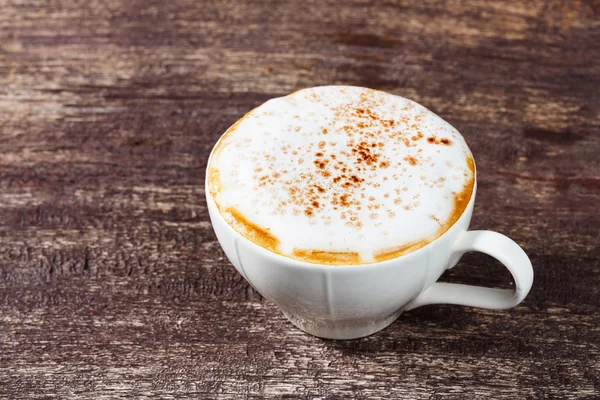
<path fill-rule="evenodd" d="M 402 313 L 402 310 L 391 316 L 378 321 L 306 321 L 298 318 L 285 310 L 281 310 L 283 315 L 298 329 L 310 335 L 323 339 L 349 340 L 359 339 L 372 335 L 380 330 L 387 328 Z"/>

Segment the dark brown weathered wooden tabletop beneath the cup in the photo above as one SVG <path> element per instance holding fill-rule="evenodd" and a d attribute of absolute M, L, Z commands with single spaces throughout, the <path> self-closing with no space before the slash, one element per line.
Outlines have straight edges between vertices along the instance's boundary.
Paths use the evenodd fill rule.
<path fill-rule="evenodd" d="M 319 84 L 416 100 L 478 163 L 510 311 L 296 330 L 225 259 L 209 151 Z M 0 0 L 0 398 L 600 398 L 597 1 Z M 445 280 L 507 286 L 468 255 Z"/>

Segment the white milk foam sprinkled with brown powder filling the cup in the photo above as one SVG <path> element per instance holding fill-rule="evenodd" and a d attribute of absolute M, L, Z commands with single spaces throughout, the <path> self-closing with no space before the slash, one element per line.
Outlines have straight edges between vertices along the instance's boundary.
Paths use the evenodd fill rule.
<path fill-rule="evenodd" d="M 270 235 L 273 251 L 350 252 L 359 258 L 351 263 L 369 263 L 454 222 L 471 195 L 471 157 L 456 129 L 411 100 L 315 87 L 232 126 L 211 156 L 209 188 L 230 225 L 244 234 L 243 217 Z"/>

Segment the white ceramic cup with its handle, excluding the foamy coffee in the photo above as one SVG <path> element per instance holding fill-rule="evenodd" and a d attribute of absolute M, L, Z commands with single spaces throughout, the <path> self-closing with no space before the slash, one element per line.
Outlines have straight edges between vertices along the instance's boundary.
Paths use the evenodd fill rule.
<path fill-rule="evenodd" d="M 398 258 L 349 266 L 311 264 L 266 250 L 227 224 L 210 195 L 208 180 L 205 190 L 219 243 L 261 295 L 305 332 L 355 339 L 387 327 L 402 311 L 415 307 L 449 303 L 506 309 L 527 296 L 533 268 L 523 249 L 500 233 L 467 230 L 477 191 L 474 185 L 465 211 L 439 238 Z M 489 254 L 504 264 L 515 280 L 515 290 L 436 282 L 469 251 Z"/>

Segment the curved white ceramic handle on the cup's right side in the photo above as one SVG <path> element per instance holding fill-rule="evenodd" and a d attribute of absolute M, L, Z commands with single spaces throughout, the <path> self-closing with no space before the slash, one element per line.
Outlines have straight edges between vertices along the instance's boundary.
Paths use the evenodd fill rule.
<path fill-rule="evenodd" d="M 515 280 L 515 290 L 437 282 L 409 303 L 405 311 L 442 303 L 503 310 L 523 301 L 533 284 L 533 267 L 518 244 L 497 232 L 468 231 L 455 243 L 450 259 L 469 251 L 488 254 L 504 264 Z"/>

